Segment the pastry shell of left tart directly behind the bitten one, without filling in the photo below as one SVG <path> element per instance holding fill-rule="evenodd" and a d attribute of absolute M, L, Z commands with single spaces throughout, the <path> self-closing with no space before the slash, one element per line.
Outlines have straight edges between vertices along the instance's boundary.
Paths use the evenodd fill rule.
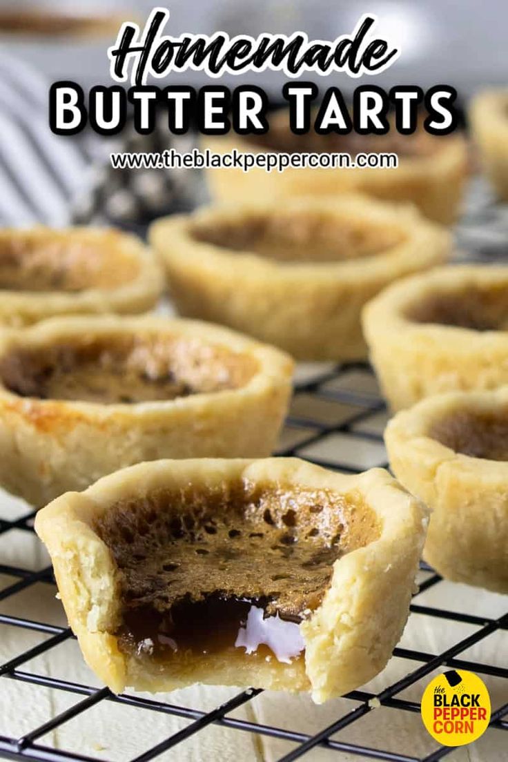
<path fill-rule="evenodd" d="M 0 483 L 5 488 L 40 507 L 143 460 L 271 453 L 291 394 L 292 360 L 225 328 L 162 317 L 55 318 L 0 335 L 0 365 L 20 351 L 143 336 L 180 341 L 181 362 L 189 362 L 190 371 L 200 347 L 225 353 L 245 368 L 244 379 L 236 388 L 197 389 L 177 399 L 135 404 L 37 399 L 2 383 Z M 206 357 L 203 363 L 206 375 Z"/>

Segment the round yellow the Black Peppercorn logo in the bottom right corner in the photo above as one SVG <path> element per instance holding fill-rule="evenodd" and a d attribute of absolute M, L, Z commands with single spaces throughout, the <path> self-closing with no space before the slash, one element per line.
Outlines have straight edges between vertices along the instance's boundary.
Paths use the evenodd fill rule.
<path fill-rule="evenodd" d="M 490 722 L 490 697 L 484 681 L 462 669 L 438 674 L 422 697 L 423 724 L 443 746 L 476 741 Z"/>

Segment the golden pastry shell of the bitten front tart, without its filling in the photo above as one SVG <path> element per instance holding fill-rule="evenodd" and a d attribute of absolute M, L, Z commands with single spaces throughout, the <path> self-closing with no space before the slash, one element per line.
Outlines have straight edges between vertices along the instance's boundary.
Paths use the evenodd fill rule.
<path fill-rule="evenodd" d="M 94 531 L 94 520 L 123 499 L 182 485 L 227 485 L 238 475 L 254 484 L 360 494 L 379 520 L 379 537 L 334 564 L 321 606 L 301 625 L 305 663 L 242 656 L 187 662 L 185 671 L 161 671 L 145 662 L 135 671 L 111 634 L 119 600 L 115 562 Z M 184 460 L 142 463 L 101 479 L 80 494 L 63 495 L 37 514 L 36 530 L 53 559 L 62 602 L 88 664 L 120 692 L 172 690 L 193 682 L 311 690 L 321 703 L 358 687 L 382 670 L 404 629 L 427 527 L 422 505 L 387 472 L 340 475 L 298 459 Z"/>

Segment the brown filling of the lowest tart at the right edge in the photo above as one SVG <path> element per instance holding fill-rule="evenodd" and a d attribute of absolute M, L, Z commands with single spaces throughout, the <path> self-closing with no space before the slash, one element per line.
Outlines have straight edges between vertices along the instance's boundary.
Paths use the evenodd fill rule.
<path fill-rule="evenodd" d="M 496 413 L 454 411 L 436 421 L 429 434 L 455 453 L 487 460 L 508 460 L 508 410 Z"/>

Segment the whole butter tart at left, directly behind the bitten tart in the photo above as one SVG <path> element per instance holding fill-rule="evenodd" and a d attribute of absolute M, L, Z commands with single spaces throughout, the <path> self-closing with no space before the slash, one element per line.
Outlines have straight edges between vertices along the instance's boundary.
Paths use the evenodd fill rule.
<path fill-rule="evenodd" d="M 292 360 L 200 322 L 53 318 L 0 335 L 0 484 L 41 507 L 161 457 L 275 446 Z"/>

